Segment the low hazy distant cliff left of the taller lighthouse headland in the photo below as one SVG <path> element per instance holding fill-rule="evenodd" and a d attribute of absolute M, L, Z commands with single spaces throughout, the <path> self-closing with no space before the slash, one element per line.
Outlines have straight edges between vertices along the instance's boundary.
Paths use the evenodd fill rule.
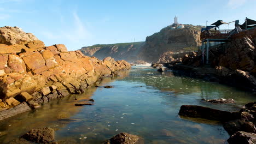
<path fill-rule="evenodd" d="M 133 61 L 136 59 L 138 52 L 143 45 L 144 42 L 93 45 L 82 47 L 80 51 L 82 51 L 86 56 L 94 56 L 99 59 L 103 59 L 104 57 L 113 57 L 114 59 Z"/>

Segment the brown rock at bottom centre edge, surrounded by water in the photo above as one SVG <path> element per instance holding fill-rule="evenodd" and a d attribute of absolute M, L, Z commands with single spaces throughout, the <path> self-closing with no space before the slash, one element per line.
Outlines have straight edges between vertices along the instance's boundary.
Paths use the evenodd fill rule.
<path fill-rule="evenodd" d="M 144 143 L 144 140 L 137 135 L 120 133 L 112 137 L 110 140 L 108 140 L 104 144 L 142 144 L 142 143 Z"/>

